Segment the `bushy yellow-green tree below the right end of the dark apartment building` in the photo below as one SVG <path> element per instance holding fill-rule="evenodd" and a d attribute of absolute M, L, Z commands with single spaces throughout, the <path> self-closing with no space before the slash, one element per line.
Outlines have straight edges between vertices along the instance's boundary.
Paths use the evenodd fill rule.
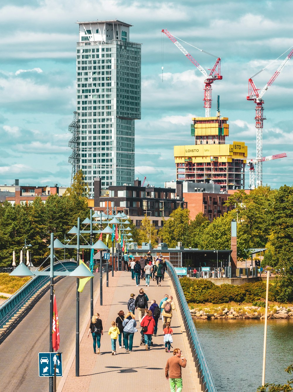
<path fill-rule="evenodd" d="M 168 220 L 164 221 L 163 228 L 159 230 L 159 237 L 169 248 L 175 248 L 177 242 L 182 242 L 186 246 L 188 229 L 189 210 L 179 207 L 171 212 Z"/>

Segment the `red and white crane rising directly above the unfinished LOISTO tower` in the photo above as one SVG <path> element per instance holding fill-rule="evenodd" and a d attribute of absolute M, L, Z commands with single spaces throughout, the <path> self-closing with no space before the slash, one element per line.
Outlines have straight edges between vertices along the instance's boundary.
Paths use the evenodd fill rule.
<path fill-rule="evenodd" d="M 210 117 L 211 116 L 211 103 L 212 103 L 212 83 L 215 80 L 222 80 L 223 76 L 220 75 L 220 68 L 221 68 L 221 59 L 220 57 L 217 58 L 217 61 L 215 65 L 213 66 L 212 69 L 209 69 L 208 71 L 211 71 L 209 75 L 207 74 L 207 71 L 205 71 L 204 68 L 202 68 L 197 61 L 191 56 L 191 54 L 188 53 L 186 49 L 182 45 L 179 44 L 179 42 L 173 37 L 171 33 L 169 33 L 168 30 L 162 30 L 162 33 L 166 34 L 168 38 L 180 49 L 182 53 L 185 54 L 185 56 L 200 70 L 200 72 L 205 76 L 205 88 L 204 88 L 204 107 L 205 107 L 205 117 Z M 206 52 L 207 53 L 207 52 Z"/>

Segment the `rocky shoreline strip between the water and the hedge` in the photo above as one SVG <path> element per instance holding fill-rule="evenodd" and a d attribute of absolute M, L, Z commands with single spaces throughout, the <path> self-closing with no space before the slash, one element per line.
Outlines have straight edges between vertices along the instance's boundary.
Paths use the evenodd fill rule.
<path fill-rule="evenodd" d="M 264 308 L 257 306 L 243 306 L 239 310 L 234 308 L 219 307 L 214 313 L 211 313 L 208 308 L 205 310 L 189 309 L 193 319 L 264 319 Z M 274 307 L 273 310 L 268 310 L 268 319 L 293 319 L 293 307 Z"/>

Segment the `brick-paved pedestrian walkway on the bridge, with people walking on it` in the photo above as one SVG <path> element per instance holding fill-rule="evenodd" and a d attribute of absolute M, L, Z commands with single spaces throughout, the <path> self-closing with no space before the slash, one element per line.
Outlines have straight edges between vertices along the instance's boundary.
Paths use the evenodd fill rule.
<path fill-rule="evenodd" d="M 103 321 L 104 336 L 101 339 L 101 354 L 93 354 L 93 339 L 91 334 L 87 338 L 89 320 L 85 320 L 84 325 L 80 328 L 80 377 L 75 377 L 75 359 L 72 353 L 71 368 L 64 371 L 63 380 L 60 382 L 58 392 L 87 391 L 104 392 L 113 391 L 118 388 L 128 388 L 130 391 L 138 390 L 145 392 L 148 390 L 169 392 L 169 382 L 164 376 L 166 361 L 172 353 L 166 353 L 163 342 L 163 323 L 159 320 L 157 336 L 153 336 L 154 346 L 150 351 L 145 350 L 145 346 L 140 346 L 141 334 L 138 317 L 136 314 L 138 332 L 134 335 L 134 347 L 132 353 L 125 352 L 124 348 L 119 348 L 118 341 L 116 346 L 116 356 L 111 355 L 111 339 L 107 331 L 111 327 L 111 321 L 116 320 L 119 310 L 127 312 L 127 301 L 130 294 L 139 293 L 139 287 L 131 280 L 128 272 L 115 272 L 114 277 L 109 276 L 109 287 L 103 287 L 103 306 L 100 307 L 100 300 L 95 298 L 96 305 L 94 312 L 100 314 Z M 165 293 L 170 293 L 175 299 L 171 279 L 165 278 L 161 287 L 151 280 L 150 287 L 141 286 L 147 293 L 148 298 L 155 299 L 157 303 L 161 301 Z M 171 286 L 170 286 L 171 285 Z M 95 303 L 95 302 L 94 302 Z M 178 309 L 178 303 L 175 299 Z M 150 306 L 150 302 L 149 302 Z M 82 325 L 82 323 L 80 323 Z M 183 390 L 200 391 L 200 385 L 197 379 L 197 372 L 191 356 L 188 340 L 184 333 L 184 325 L 179 311 L 173 312 L 173 347 L 180 347 L 187 358 L 187 366 L 182 369 Z"/>

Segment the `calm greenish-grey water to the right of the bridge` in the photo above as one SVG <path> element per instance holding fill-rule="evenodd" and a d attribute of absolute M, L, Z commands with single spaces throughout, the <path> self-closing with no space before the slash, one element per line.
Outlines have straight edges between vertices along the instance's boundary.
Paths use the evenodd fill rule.
<path fill-rule="evenodd" d="M 263 372 L 263 320 L 195 320 L 217 392 L 256 392 Z M 266 383 L 285 383 L 293 363 L 293 321 L 268 320 Z"/>

